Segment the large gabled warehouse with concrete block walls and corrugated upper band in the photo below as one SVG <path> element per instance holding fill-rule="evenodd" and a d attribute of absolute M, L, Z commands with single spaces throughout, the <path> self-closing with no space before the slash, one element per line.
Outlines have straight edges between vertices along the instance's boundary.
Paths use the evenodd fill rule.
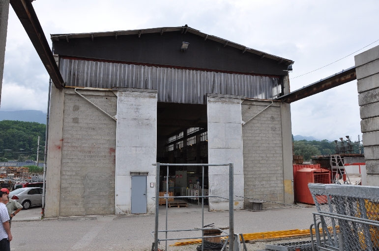
<path fill-rule="evenodd" d="M 233 163 L 235 209 L 293 203 L 290 104 L 274 100 L 293 61 L 187 25 L 51 39 L 65 88 L 51 90 L 46 217 L 154 213 L 155 162 Z M 163 170 L 175 194 L 204 176 L 228 195 L 225 167 Z"/>

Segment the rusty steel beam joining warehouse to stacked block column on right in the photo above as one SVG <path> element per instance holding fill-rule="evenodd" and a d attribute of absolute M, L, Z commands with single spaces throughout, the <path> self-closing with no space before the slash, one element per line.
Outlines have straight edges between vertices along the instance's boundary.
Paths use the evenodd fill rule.
<path fill-rule="evenodd" d="M 276 98 L 276 100 L 282 100 L 286 103 L 292 103 L 294 101 L 307 98 L 309 96 L 326 91 L 341 84 L 345 84 L 355 79 L 355 66 L 353 66 L 349 69 L 343 70 L 342 72 L 325 77 L 315 83 L 304 86 L 303 88 L 300 88 L 296 91 L 290 92 L 289 94 L 278 97 Z"/>

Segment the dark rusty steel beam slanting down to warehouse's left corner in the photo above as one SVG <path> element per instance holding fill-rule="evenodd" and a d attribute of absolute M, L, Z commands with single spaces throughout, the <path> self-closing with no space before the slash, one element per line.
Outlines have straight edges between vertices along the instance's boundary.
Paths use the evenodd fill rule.
<path fill-rule="evenodd" d="M 31 43 L 37 51 L 38 56 L 50 75 L 55 87 L 62 89 L 64 87 L 62 75 L 60 75 L 58 65 L 51 52 L 49 43 L 46 40 L 31 1 L 10 0 L 10 5 L 14 12 L 16 12 L 21 24 L 24 26 Z"/>

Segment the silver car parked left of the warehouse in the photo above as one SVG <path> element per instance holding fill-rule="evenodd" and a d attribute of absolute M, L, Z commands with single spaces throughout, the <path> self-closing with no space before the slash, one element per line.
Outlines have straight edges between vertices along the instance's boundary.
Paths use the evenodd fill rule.
<path fill-rule="evenodd" d="M 23 187 L 9 193 L 9 199 L 19 202 L 24 209 L 30 206 L 42 205 L 42 188 Z"/>

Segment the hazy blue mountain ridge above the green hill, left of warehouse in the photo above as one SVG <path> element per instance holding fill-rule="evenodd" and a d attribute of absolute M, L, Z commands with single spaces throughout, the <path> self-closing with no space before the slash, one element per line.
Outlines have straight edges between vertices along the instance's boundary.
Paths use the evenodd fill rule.
<path fill-rule="evenodd" d="M 37 122 L 46 125 L 46 113 L 37 110 L 0 111 L 0 121 L 3 120 Z"/>

